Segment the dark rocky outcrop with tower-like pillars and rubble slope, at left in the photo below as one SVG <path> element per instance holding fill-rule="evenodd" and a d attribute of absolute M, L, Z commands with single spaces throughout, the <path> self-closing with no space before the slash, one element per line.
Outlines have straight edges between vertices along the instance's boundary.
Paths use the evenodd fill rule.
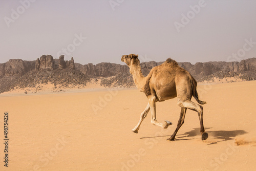
<path fill-rule="evenodd" d="M 88 76 L 75 70 L 73 57 L 69 61 L 64 61 L 64 55 L 59 59 L 53 59 L 51 55 L 42 55 L 35 61 L 10 59 L 6 63 L 0 63 L 0 93 L 15 87 L 35 87 L 36 84 L 48 82 L 60 84 L 62 87 L 68 84 L 86 86 L 88 81 Z"/>

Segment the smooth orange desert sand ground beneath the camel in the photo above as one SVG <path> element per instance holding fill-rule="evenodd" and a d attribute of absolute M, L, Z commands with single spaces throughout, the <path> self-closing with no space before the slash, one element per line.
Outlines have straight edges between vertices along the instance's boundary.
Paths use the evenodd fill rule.
<path fill-rule="evenodd" d="M 0 95 L 0 170 L 253 170 L 256 166 L 256 81 L 201 84 L 202 141 L 197 113 L 188 110 L 176 141 L 177 99 L 157 103 L 138 134 L 131 130 L 147 104 L 136 89 Z M 196 100 L 193 98 L 193 101 Z M 4 113 L 9 115 L 4 166 Z"/>

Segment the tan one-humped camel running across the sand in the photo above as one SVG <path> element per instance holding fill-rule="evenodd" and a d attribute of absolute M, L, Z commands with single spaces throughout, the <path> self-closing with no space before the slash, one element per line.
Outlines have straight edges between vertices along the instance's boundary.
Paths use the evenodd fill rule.
<path fill-rule="evenodd" d="M 178 105 L 181 107 L 180 118 L 173 135 L 167 141 L 174 141 L 177 132 L 184 123 L 186 110 L 196 111 L 200 120 L 200 132 L 202 140 L 208 138 L 208 134 L 204 130 L 203 124 L 203 107 L 199 104 L 205 104 L 205 101 L 199 100 L 197 93 L 197 81 L 190 75 L 188 71 L 178 66 L 178 63 L 168 58 L 161 65 L 154 67 L 150 73 L 144 77 L 141 72 L 140 60 L 138 55 L 130 54 L 123 55 L 121 61 L 125 62 L 130 68 L 130 73 L 133 75 L 133 80 L 136 87 L 144 92 L 148 98 L 146 109 L 141 113 L 139 123 L 132 130 L 138 133 L 140 125 L 147 113 L 151 110 L 151 123 L 167 129 L 172 123 L 165 121 L 159 123 L 156 118 L 156 102 L 165 101 L 168 99 L 178 98 Z M 191 101 L 192 96 L 197 100 L 197 103 Z"/>

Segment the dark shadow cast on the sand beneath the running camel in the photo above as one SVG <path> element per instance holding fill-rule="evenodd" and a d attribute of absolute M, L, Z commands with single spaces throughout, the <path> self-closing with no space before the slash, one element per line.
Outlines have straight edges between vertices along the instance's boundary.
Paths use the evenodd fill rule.
<path fill-rule="evenodd" d="M 205 127 L 205 130 L 211 129 L 211 127 Z M 213 137 L 214 139 L 218 139 L 216 142 L 211 142 L 208 145 L 211 144 L 217 144 L 218 142 L 221 141 L 228 141 L 228 140 L 233 140 L 234 137 L 239 136 L 239 135 L 244 135 L 247 134 L 248 132 L 244 130 L 234 130 L 234 131 L 206 131 L 209 134 L 209 138 Z M 193 130 L 186 132 L 184 134 L 177 134 L 175 140 L 177 141 L 182 141 L 182 140 L 191 140 L 195 138 L 195 136 L 201 136 L 200 134 L 200 128 L 194 128 Z M 156 137 L 142 137 L 141 139 L 144 138 L 157 138 L 157 137 L 170 137 L 170 135 L 167 136 L 156 136 Z M 183 139 L 185 138 L 185 139 Z"/>

